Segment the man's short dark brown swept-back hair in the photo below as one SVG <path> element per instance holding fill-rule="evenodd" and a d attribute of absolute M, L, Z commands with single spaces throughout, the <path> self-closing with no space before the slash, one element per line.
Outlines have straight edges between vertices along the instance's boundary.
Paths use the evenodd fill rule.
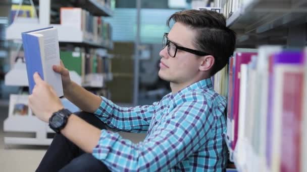
<path fill-rule="evenodd" d="M 196 31 L 194 46 L 215 58 L 211 75 L 216 74 L 228 63 L 235 48 L 236 33 L 226 27 L 226 19 L 222 14 L 210 10 L 186 10 L 170 16 L 167 20 L 168 27 L 171 20 Z"/>

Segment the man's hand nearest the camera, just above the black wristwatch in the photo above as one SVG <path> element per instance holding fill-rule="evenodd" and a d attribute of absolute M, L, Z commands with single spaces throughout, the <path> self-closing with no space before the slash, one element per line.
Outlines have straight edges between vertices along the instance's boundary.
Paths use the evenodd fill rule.
<path fill-rule="evenodd" d="M 63 109 L 60 99 L 54 89 L 43 81 L 37 72 L 33 75 L 35 86 L 29 96 L 29 107 L 33 113 L 44 122 L 48 122 L 54 112 Z"/>

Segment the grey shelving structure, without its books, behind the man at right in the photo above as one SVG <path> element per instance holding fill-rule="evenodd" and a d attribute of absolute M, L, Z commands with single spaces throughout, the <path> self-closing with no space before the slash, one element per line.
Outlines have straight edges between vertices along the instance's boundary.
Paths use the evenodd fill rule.
<path fill-rule="evenodd" d="M 228 1 L 221 0 L 221 7 Z M 287 48 L 303 48 L 306 45 L 306 0 L 246 0 L 237 6 L 236 10 L 228 10 L 227 27 L 233 29 L 237 37 L 237 47 L 255 48 L 265 44 L 278 44 Z M 225 15 L 225 13 L 224 13 Z M 226 139 L 229 145 L 229 140 Z M 240 149 L 245 151 L 246 160 L 260 162 L 251 150 L 251 145 L 240 141 Z M 244 157 L 238 157 L 236 148 L 230 152 L 229 159 L 233 161 L 238 171 L 250 171 Z M 241 161 L 240 161 L 241 160 Z M 266 169 L 267 170 L 267 169 Z"/>

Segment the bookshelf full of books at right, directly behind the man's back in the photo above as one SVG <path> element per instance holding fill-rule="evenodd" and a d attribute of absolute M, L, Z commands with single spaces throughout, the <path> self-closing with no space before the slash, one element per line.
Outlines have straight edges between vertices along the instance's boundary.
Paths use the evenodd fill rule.
<path fill-rule="evenodd" d="M 254 49 L 258 55 L 254 58 L 250 55 L 249 63 L 239 64 L 241 71 L 228 68 L 228 72 L 238 70 L 239 88 L 243 88 L 239 89 L 238 121 L 232 117 L 229 120 L 227 116 L 227 124 L 231 125 L 227 126 L 227 131 L 231 134 L 227 132 L 225 142 L 230 161 L 238 171 L 305 171 L 307 111 L 297 108 L 301 111 L 295 112 L 293 107 L 307 103 L 307 1 L 217 0 L 214 3 L 213 7 L 222 8 L 227 26 L 237 33 L 237 48 L 258 48 Z M 299 58 L 302 60 L 295 63 L 278 62 L 278 59 Z M 285 73 L 292 76 L 287 77 Z M 295 76 L 299 79 L 291 81 Z M 232 80 L 232 73 L 228 77 Z M 241 98 L 245 103 L 241 103 Z M 233 121 L 238 125 L 237 131 Z"/>

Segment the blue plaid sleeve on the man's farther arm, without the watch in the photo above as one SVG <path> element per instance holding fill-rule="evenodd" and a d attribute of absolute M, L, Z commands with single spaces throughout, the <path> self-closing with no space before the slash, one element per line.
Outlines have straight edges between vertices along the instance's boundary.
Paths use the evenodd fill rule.
<path fill-rule="evenodd" d="M 100 107 L 94 114 L 109 127 L 129 132 L 146 132 L 148 130 L 152 114 L 160 102 L 152 105 L 123 108 L 112 101 L 101 97 Z"/>

